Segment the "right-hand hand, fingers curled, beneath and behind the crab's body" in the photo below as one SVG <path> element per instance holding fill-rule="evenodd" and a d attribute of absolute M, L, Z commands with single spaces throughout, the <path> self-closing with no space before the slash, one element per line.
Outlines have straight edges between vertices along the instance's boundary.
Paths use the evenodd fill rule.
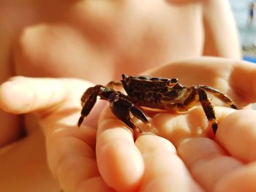
<path fill-rule="evenodd" d="M 188 86 L 210 85 L 244 107 L 255 102 L 255 73 L 256 66 L 246 62 L 200 58 L 146 74 L 178 77 Z M 134 142 L 132 131 L 108 108 L 102 113 L 96 152 L 99 172 L 108 185 L 118 191 L 256 190 L 255 111 L 216 107 L 215 139 L 208 138 L 213 137 L 212 130 L 200 106 L 181 115 L 144 112 L 153 127 L 143 131 L 161 137 L 146 133 Z"/>

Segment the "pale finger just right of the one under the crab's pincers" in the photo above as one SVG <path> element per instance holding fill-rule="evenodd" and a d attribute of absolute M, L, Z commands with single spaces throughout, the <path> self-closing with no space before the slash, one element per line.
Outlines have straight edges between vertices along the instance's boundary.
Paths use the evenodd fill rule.
<path fill-rule="evenodd" d="M 145 163 L 140 191 L 202 191 L 167 139 L 142 135 L 136 145 Z"/>

